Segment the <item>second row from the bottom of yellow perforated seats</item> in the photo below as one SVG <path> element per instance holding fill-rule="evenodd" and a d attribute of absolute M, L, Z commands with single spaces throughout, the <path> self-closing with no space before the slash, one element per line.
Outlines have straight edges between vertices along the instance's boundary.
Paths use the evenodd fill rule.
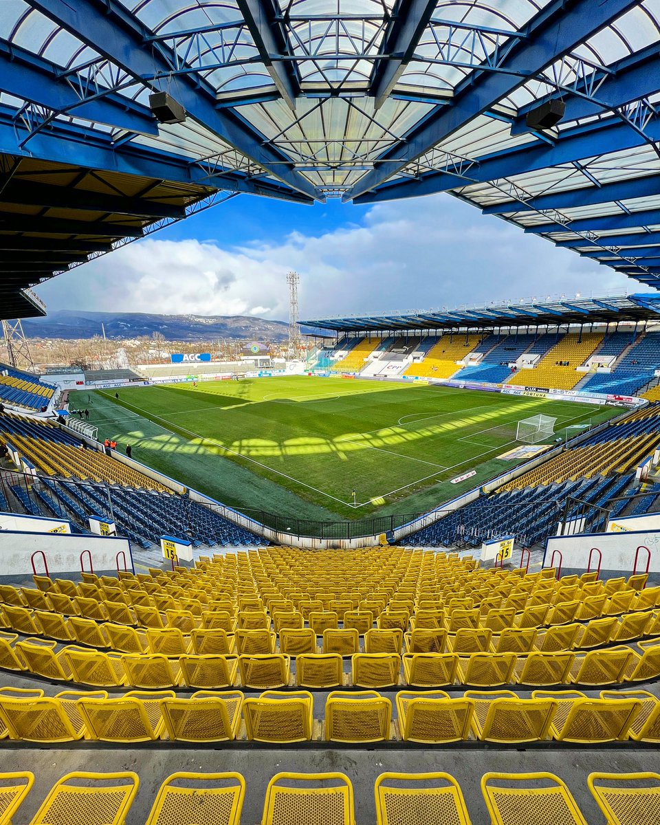
<path fill-rule="evenodd" d="M 660 700 L 648 691 L 399 691 L 393 702 L 377 691 L 332 691 L 315 719 L 309 691 L 63 691 L 0 689 L 0 738 L 25 742 L 252 742 L 323 740 L 365 744 L 467 740 L 660 743 Z"/>

